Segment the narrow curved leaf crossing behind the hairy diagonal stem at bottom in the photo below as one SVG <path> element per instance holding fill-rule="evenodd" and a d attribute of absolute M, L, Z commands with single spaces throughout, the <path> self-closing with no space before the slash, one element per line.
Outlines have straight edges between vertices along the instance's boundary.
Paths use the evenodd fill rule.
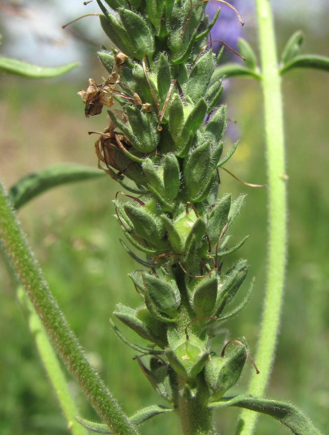
<path fill-rule="evenodd" d="M 146 408 L 140 409 L 135 414 L 129 417 L 129 421 L 133 425 L 140 425 L 141 423 L 146 422 L 151 417 L 155 415 L 164 414 L 165 412 L 171 412 L 173 408 L 166 408 L 162 405 L 151 405 Z M 100 434 L 113 434 L 112 430 L 104 424 L 91 422 L 90 420 L 86 420 L 85 418 L 74 416 L 78 423 L 80 423 L 85 428 L 91 430 L 92 432 L 97 432 Z"/>

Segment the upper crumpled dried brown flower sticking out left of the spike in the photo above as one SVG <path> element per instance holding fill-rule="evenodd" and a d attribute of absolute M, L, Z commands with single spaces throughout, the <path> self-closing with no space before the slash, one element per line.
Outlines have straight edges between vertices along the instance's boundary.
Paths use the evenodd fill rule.
<path fill-rule="evenodd" d="M 113 106 L 113 92 L 119 81 L 120 76 L 117 73 L 111 74 L 104 83 L 100 85 L 97 85 L 95 80 L 88 79 L 87 90 L 78 92 L 78 95 L 80 95 L 84 104 L 86 104 L 84 114 L 87 118 L 89 118 L 89 115 L 99 115 L 103 106 Z M 105 93 L 107 93 L 109 97 L 106 97 Z"/>

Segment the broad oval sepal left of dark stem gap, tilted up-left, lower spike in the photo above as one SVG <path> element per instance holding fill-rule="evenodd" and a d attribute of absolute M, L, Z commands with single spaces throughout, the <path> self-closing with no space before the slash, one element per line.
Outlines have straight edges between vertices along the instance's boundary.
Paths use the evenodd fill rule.
<path fill-rule="evenodd" d="M 170 318 L 177 317 L 177 310 L 181 302 L 181 294 L 175 280 L 168 278 L 159 279 L 154 275 L 143 273 L 145 298 L 151 301 L 161 313 Z"/>

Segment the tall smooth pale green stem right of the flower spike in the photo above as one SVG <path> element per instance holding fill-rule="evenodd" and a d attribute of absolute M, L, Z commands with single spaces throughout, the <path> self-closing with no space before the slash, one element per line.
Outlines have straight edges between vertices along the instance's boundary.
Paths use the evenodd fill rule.
<path fill-rule="evenodd" d="M 262 326 L 255 357 L 255 372 L 249 392 L 263 395 L 269 382 L 279 333 L 286 256 L 286 175 L 283 133 L 281 78 L 275 47 L 275 34 L 269 0 L 255 0 L 262 61 L 266 157 L 269 194 L 268 272 Z M 257 413 L 243 411 L 238 433 L 254 432 Z"/>

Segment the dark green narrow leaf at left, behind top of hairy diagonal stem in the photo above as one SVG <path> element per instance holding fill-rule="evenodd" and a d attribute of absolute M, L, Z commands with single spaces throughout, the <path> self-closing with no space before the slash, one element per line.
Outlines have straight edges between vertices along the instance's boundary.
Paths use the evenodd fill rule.
<path fill-rule="evenodd" d="M 104 177 L 105 172 L 79 164 L 54 164 L 20 178 L 9 191 L 13 206 L 18 209 L 34 197 L 61 184 Z"/>

